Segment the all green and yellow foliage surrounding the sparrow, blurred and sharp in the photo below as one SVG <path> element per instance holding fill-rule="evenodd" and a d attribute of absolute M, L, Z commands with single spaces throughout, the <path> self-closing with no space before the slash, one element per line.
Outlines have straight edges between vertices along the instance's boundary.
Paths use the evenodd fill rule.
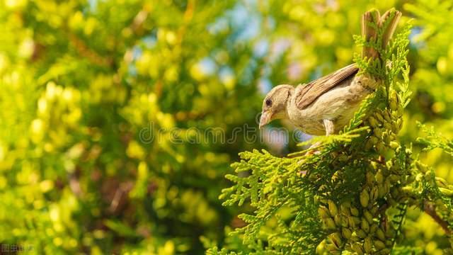
<path fill-rule="evenodd" d="M 337 222 L 346 217 L 360 226 L 365 210 L 392 198 L 386 215 L 405 237 L 388 238 L 392 252 L 442 253 L 449 240 L 420 208 L 452 222 L 452 157 L 434 148 L 451 154 L 453 97 L 445 91 L 453 84 L 453 12 L 449 1 L 405 3 L 0 0 L 1 249 L 322 252 L 338 241 L 349 247 L 345 237 L 359 232 Z M 244 125 L 255 127 L 268 86 L 350 64 L 360 15 L 393 6 L 413 18 L 414 28 L 398 29 L 386 51 L 394 53 L 386 55 L 391 66 L 369 69 L 388 79 L 387 90 L 365 100 L 342 134 L 316 137 L 319 154 L 304 156 L 294 141 L 250 142 L 244 132 L 231 143 L 192 142 L 208 128 L 221 128 L 228 139 Z M 415 121 L 436 131 L 420 135 Z M 243 152 L 258 147 L 266 150 Z M 240 152 L 238 172 L 229 174 Z M 292 158 L 279 157 L 286 152 Z M 365 167 L 376 183 L 382 178 L 378 193 L 388 186 L 390 195 L 370 198 L 376 185 Z M 363 190 L 369 208 L 360 203 Z M 331 217 L 329 201 L 340 216 Z M 382 219 L 372 216 L 370 229 Z M 335 229 L 327 228 L 332 222 Z M 363 249 L 365 239 L 358 243 Z"/>

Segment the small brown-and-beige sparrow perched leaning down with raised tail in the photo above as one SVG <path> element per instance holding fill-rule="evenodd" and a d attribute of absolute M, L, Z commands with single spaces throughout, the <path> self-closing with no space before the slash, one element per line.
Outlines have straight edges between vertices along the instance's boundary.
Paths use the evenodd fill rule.
<path fill-rule="evenodd" d="M 399 18 L 401 12 L 394 8 L 382 16 L 377 10 L 367 11 L 362 16 L 365 42 L 376 44 L 379 36 L 377 28 L 382 27 L 384 30 L 380 42 L 382 49 L 385 49 Z M 382 61 L 379 52 L 369 44 L 363 47 L 362 57 Z M 356 64 L 350 64 L 309 84 L 275 86 L 263 101 L 259 127 L 263 128 L 272 120 L 286 119 L 309 135 L 338 133 L 348 125 L 362 100 L 382 84 L 372 74 L 359 71 Z"/>

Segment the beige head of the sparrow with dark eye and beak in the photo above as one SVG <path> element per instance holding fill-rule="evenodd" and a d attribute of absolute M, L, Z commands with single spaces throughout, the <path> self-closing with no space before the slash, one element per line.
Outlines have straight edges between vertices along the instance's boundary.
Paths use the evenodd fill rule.
<path fill-rule="evenodd" d="M 287 118 L 286 106 L 293 90 L 291 85 L 278 85 L 269 91 L 263 101 L 260 128 L 272 120 Z"/>

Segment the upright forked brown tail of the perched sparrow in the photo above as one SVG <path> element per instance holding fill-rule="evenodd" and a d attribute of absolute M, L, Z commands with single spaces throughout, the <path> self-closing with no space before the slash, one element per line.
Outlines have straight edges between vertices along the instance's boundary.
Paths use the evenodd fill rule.
<path fill-rule="evenodd" d="M 382 50 L 385 50 L 391 37 L 394 35 L 399 18 L 401 18 L 401 12 L 396 11 L 395 8 L 386 11 L 382 16 L 379 15 L 379 11 L 376 9 L 367 11 L 363 14 L 362 36 L 369 45 L 364 45 L 362 57 L 367 59 L 380 58 L 377 48 L 380 47 Z M 379 33 L 382 33 L 382 40 L 379 40 L 378 42 Z M 379 46 L 377 43 L 382 43 L 382 45 Z M 372 47 L 372 45 L 375 46 Z"/>

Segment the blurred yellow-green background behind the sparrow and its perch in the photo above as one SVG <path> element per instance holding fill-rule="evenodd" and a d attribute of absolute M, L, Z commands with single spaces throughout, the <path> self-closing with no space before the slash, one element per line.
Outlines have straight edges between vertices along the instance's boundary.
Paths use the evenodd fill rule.
<path fill-rule="evenodd" d="M 452 1 L 1 0 L 1 248 L 203 254 L 236 245 L 227 233 L 248 209 L 218 200 L 229 164 L 253 148 L 294 152 L 307 138 L 246 132 L 264 94 L 350 64 L 362 13 L 391 7 L 401 23 L 413 18 L 401 140 L 423 135 L 417 120 L 451 138 Z M 221 133 L 201 135 L 210 128 Z M 453 183 L 452 157 L 413 148 Z M 416 210 L 403 231 L 425 254 L 449 246 Z"/>

